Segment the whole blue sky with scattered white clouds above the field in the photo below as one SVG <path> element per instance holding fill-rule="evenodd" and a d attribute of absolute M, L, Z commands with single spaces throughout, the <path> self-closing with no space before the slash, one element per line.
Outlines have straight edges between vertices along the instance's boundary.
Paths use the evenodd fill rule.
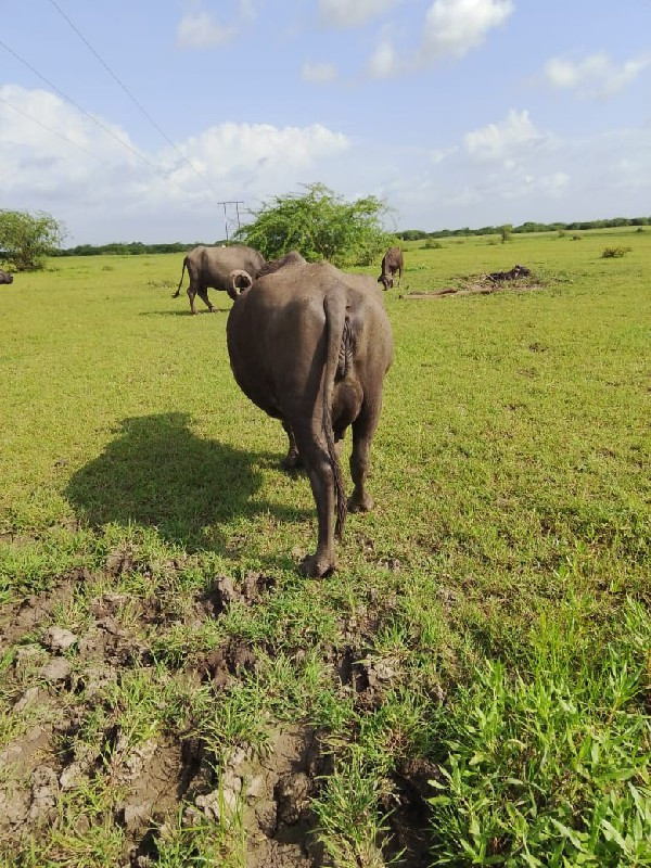
<path fill-rule="evenodd" d="M 69 244 L 214 241 L 219 201 L 312 181 L 398 229 L 651 216 L 651 0 L 0 0 L 0 208 Z"/>

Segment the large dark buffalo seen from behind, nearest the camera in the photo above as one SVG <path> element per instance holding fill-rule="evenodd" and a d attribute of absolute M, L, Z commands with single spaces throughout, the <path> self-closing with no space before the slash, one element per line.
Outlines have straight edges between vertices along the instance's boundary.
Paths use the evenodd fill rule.
<path fill-rule="evenodd" d="M 266 270 L 257 280 L 233 272 L 233 291 L 242 292 L 228 317 L 228 352 L 238 385 L 281 420 L 288 459 L 299 456 L 307 471 L 319 532 L 302 571 L 322 576 L 336 570 L 333 536 L 341 539 L 346 510 L 373 506 L 366 478 L 393 360 L 391 324 L 373 278 L 308 264 L 295 253 Z M 348 425 L 354 489 L 346 505 L 335 444 Z"/>

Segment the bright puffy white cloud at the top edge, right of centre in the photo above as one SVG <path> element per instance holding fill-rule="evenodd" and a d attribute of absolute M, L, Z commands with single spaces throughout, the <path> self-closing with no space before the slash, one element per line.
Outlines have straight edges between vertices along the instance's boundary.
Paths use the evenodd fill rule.
<path fill-rule="evenodd" d="M 463 56 L 512 11 L 512 0 L 434 0 L 425 16 L 419 62 Z"/>

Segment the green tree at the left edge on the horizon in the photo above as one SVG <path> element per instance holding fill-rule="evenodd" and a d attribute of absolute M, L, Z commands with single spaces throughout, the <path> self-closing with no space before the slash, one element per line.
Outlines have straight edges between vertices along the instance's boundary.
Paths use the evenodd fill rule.
<path fill-rule="evenodd" d="M 46 212 L 0 210 L 0 261 L 16 271 L 42 268 L 65 238 L 63 224 Z"/>

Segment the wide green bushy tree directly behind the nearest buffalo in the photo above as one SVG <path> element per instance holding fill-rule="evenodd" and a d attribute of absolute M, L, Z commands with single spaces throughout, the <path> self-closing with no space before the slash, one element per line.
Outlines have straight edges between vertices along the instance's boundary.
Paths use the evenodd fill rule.
<path fill-rule="evenodd" d="M 386 204 L 375 196 L 345 202 L 322 183 L 305 186 L 305 193 L 273 196 L 263 203 L 255 219 L 235 233 L 238 241 L 275 259 L 292 250 L 308 261 L 370 265 L 391 242 L 383 229 Z"/>

